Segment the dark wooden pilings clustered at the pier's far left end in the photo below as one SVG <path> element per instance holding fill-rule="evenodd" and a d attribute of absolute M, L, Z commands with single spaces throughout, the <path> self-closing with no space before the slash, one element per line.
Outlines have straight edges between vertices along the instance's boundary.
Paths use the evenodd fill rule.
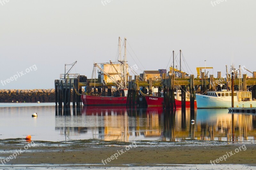
<path fill-rule="evenodd" d="M 82 107 L 81 96 L 82 88 L 78 86 L 78 78 L 55 80 L 55 115 L 70 115 L 71 89 L 73 89 L 72 105 L 73 115 L 79 114 Z M 63 107 L 62 107 L 63 103 Z M 63 109 L 63 112 L 62 112 Z"/>

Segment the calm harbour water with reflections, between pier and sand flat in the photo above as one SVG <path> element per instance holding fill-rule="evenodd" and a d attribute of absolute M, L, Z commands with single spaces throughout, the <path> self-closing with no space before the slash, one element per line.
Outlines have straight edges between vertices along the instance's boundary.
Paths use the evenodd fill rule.
<path fill-rule="evenodd" d="M 37 118 L 31 117 L 38 113 Z M 184 139 L 232 141 L 232 115 L 228 109 L 198 109 L 190 114 L 164 113 L 161 107 L 126 109 L 126 107 L 82 107 L 82 110 L 55 115 L 55 103 L 1 103 L 0 139 L 70 141 Z M 63 115 L 64 114 L 64 115 Z M 195 124 L 191 124 L 191 120 Z M 255 142 L 256 116 L 234 114 L 235 138 Z"/>

